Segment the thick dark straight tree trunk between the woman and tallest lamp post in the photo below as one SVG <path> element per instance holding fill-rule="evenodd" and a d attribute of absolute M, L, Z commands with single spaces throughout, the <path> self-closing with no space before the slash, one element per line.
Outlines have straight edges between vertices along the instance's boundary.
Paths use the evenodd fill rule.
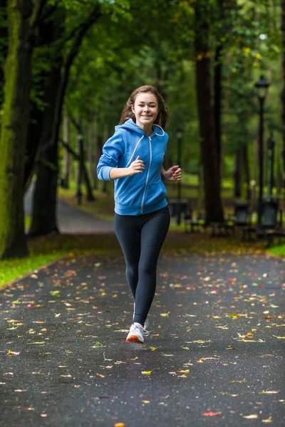
<path fill-rule="evenodd" d="M 197 28 L 195 31 L 195 58 L 197 82 L 197 107 L 199 136 L 204 168 L 204 201 L 206 223 L 224 221 L 220 195 L 219 162 L 214 137 L 214 115 L 212 109 L 211 74 L 209 60 L 209 23 L 207 8 L 195 4 Z"/>

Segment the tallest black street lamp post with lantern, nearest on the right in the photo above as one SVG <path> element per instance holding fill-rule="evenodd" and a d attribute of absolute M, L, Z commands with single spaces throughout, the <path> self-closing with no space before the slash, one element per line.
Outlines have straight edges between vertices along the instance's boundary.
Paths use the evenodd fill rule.
<path fill-rule="evenodd" d="M 257 83 L 255 83 L 255 90 L 259 99 L 259 199 L 257 206 L 257 236 L 263 236 L 264 231 L 262 228 L 262 197 L 263 197 L 263 178 L 264 178 L 264 157 L 263 157 L 263 138 L 264 138 L 264 100 L 266 97 L 269 83 L 261 75 Z"/>

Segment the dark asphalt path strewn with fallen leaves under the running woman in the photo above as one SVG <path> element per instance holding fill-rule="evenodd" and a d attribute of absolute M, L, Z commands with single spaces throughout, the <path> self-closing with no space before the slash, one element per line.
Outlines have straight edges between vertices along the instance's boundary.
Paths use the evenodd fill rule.
<path fill-rule="evenodd" d="M 0 426 L 284 426 L 284 263 L 163 255 L 157 278 L 143 345 L 121 256 L 2 290 Z"/>

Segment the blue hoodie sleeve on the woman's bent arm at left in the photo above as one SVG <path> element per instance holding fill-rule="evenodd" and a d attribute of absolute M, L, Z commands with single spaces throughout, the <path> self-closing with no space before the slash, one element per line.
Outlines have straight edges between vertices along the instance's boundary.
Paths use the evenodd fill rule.
<path fill-rule="evenodd" d="M 97 176 L 101 181 L 112 181 L 110 170 L 118 167 L 118 159 L 125 152 L 125 139 L 122 132 L 115 132 L 103 146 L 103 154 L 97 165 Z"/>

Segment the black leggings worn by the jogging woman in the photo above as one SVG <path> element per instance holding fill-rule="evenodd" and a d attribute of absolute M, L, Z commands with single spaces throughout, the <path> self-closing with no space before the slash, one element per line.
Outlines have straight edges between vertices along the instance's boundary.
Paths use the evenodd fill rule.
<path fill-rule="evenodd" d="M 170 226 L 168 206 L 144 215 L 114 217 L 115 234 L 125 257 L 125 275 L 135 302 L 133 322 L 144 324 L 156 288 L 156 268 Z"/>

